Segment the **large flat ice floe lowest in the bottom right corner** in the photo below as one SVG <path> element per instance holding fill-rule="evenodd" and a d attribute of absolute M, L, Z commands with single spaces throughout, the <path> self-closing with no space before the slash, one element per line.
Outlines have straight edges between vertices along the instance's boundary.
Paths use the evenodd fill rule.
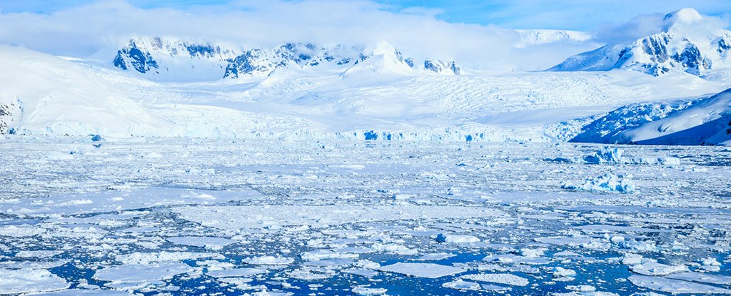
<path fill-rule="evenodd" d="M 731 294 L 730 289 L 656 276 L 630 276 L 635 286 L 672 294 Z"/>

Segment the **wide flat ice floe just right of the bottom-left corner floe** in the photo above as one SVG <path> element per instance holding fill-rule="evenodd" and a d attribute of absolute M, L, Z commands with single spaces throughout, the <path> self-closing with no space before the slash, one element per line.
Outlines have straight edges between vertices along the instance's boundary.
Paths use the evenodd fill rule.
<path fill-rule="evenodd" d="M 105 286 L 134 287 L 147 284 L 163 284 L 163 280 L 181 273 L 193 271 L 183 263 L 160 263 L 155 265 L 120 265 L 96 270 L 94 279 L 110 281 Z"/>

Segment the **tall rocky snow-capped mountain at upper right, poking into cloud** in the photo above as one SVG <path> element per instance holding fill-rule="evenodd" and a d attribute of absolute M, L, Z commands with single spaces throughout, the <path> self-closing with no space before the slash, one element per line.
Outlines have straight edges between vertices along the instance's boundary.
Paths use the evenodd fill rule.
<path fill-rule="evenodd" d="M 731 68 L 731 31 L 715 29 L 705 34 L 694 29 L 703 17 L 693 9 L 665 15 L 663 31 L 629 42 L 568 58 L 550 71 L 607 71 L 629 69 L 659 76 L 668 72 L 708 75 Z"/>

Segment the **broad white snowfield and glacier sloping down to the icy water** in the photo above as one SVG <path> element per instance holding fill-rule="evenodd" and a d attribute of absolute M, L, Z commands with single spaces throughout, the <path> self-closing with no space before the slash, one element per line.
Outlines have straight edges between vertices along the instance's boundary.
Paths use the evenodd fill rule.
<path fill-rule="evenodd" d="M 622 105 L 697 97 L 730 86 L 693 75 L 656 78 L 621 71 L 438 75 L 414 72 L 387 43 L 367 53 L 369 58 L 344 70 L 292 68 L 238 80 L 173 83 L 4 47 L 0 132 L 545 142 L 568 140 L 587 116 Z"/>

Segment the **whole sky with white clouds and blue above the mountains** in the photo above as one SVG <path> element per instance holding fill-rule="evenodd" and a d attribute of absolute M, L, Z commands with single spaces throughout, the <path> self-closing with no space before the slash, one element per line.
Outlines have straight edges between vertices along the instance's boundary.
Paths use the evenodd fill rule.
<path fill-rule="evenodd" d="M 0 0 L 0 44 L 107 60 L 132 37 L 175 37 L 234 48 L 284 42 L 387 41 L 413 58 L 474 68 L 515 61 L 541 69 L 603 44 L 662 30 L 662 16 L 692 4 L 727 27 L 728 0 Z M 589 42 L 520 48 L 513 29 L 588 31 Z"/>

